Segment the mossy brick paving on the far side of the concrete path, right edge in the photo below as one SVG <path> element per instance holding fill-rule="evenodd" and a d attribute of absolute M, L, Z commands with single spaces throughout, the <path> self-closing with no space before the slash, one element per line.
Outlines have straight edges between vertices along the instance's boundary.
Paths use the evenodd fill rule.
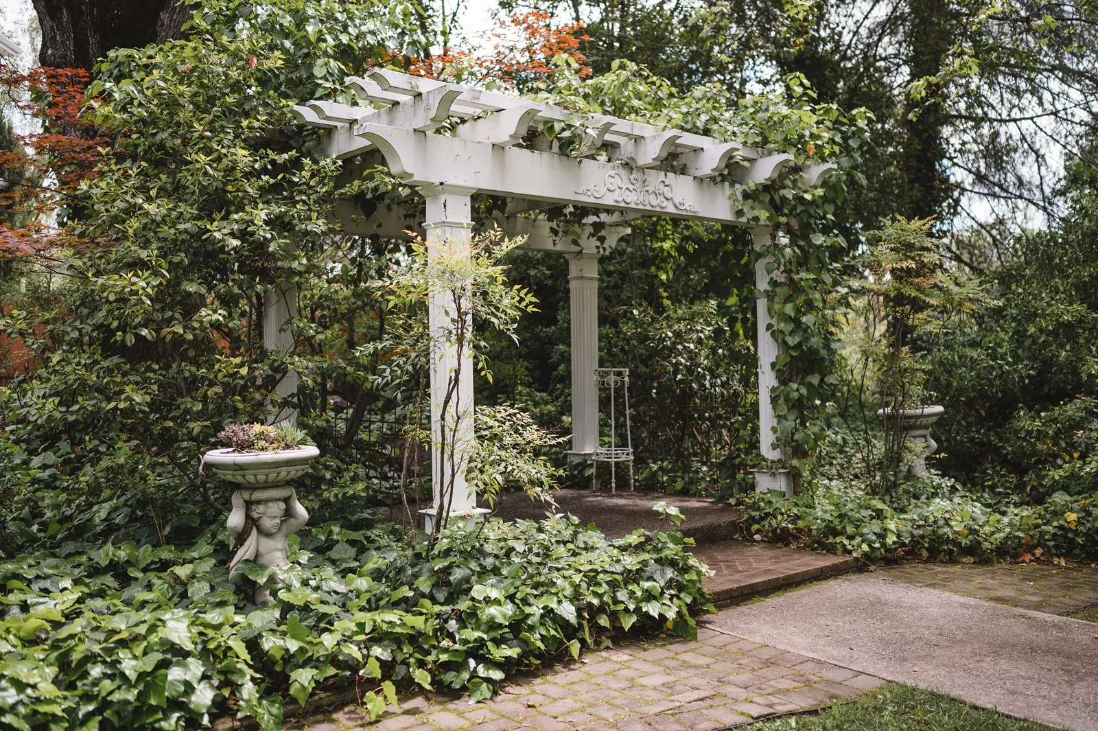
<path fill-rule="evenodd" d="M 1098 570 L 1086 566 L 912 563 L 882 578 L 1051 615 L 1098 605 Z"/>

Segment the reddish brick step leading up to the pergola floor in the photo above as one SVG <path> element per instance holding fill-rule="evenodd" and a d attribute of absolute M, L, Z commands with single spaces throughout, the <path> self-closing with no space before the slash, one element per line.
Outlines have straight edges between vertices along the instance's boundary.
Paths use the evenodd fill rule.
<path fill-rule="evenodd" d="M 781 548 L 770 543 L 721 541 L 691 549 L 716 574 L 705 582 L 714 604 L 770 589 L 799 584 L 858 567 L 858 560 L 845 555 L 815 553 Z"/>

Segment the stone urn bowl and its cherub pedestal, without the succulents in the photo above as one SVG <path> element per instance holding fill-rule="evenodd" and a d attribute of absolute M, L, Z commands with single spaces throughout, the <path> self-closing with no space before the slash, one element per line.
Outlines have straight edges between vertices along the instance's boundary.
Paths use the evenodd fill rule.
<path fill-rule="evenodd" d="M 228 564 L 228 578 L 243 585 L 245 576 L 236 571 L 242 561 L 261 566 L 288 566 L 285 539 L 309 520 L 309 513 L 298 502 L 288 480 L 300 477 L 309 464 L 320 457 L 311 445 L 276 452 L 237 452 L 234 449 L 213 449 L 203 457 L 203 464 L 219 477 L 240 485 L 233 492 L 233 510 L 226 527 L 234 542 L 242 531 L 243 541 Z M 249 525 L 250 518 L 250 525 Z M 258 585 L 254 593 L 256 604 L 269 604 L 271 588 L 278 578 L 271 576 Z"/>

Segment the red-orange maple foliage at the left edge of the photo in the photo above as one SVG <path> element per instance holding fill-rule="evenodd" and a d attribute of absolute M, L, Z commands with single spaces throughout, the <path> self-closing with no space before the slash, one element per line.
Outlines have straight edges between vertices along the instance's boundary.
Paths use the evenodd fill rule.
<path fill-rule="evenodd" d="M 8 103 L 42 124 L 42 132 L 16 135 L 16 149 L 0 150 L 0 170 L 22 171 L 0 192 L 0 259 L 24 258 L 75 243 L 43 221 L 72 203 L 81 182 L 96 176 L 110 138 L 89 122 L 83 69 L 24 72 L 0 60 L 0 87 Z M 12 227 L 16 216 L 30 220 L 25 228 Z"/>

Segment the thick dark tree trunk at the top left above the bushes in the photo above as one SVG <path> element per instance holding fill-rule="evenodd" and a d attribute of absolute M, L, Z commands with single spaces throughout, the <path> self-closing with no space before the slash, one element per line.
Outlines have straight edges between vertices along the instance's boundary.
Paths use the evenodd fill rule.
<path fill-rule="evenodd" d="M 38 63 L 82 68 L 113 48 L 135 48 L 182 37 L 190 0 L 32 0 L 42 25 Z"/>

